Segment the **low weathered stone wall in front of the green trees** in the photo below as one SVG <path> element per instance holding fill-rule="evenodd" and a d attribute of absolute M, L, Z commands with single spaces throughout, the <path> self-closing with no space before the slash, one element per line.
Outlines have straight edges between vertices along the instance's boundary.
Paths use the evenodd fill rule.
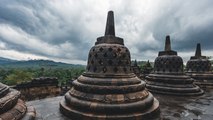
<path fill-rule="evenodd" d="M 35 100 L 58 96 L 61 88 L 56 77 L 39 77 L 30 82 L 21 83 L 13 87 L 21 92 L 21 99 Z"/>

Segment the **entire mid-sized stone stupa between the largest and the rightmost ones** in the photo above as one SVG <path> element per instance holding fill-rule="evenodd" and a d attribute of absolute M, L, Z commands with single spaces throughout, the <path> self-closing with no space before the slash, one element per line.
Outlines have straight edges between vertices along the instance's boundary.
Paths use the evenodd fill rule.
<path fill-rule="evenodd" d="M 170 37 L 166 36 L 165 50 L 159 52 L 153 72 L 146 77 L 147 89 L 154 93 L 180 96 L 203 94 L 193 81 L 183 72 L 183 60 L 171 50 Z"/>

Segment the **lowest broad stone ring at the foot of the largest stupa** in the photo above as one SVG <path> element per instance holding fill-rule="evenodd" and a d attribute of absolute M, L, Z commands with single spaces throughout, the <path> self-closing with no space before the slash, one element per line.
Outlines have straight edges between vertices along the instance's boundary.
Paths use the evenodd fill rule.
<path fill-rule="evenodd" d="M 153 105 L 141 112 L 126 114 L 95 114 L 92 112 L 78 111 L 68 106 L 63 99 L 60 102 L 60 111 L 72 120 L 147 120 L 159 118 L 159 102 L 154 98 Z"/>

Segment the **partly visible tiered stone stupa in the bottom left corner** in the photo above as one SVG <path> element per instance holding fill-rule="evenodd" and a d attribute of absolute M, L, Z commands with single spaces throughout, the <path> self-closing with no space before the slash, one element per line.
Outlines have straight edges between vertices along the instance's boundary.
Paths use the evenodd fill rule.
<path fill-rule="evenodd" d="M 20 92 L 0 83 L 0 120 L 34 120 L 35 109 L 20 99 Z"/>

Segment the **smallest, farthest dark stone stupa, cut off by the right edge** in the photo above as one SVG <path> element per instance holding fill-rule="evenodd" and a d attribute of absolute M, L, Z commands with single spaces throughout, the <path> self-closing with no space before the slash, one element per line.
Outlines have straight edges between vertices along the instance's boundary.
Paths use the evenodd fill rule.
<path fill-rule="evenodd" d="M 198 43 L 195 56 L 192 56 L 186 64 L 186 73 L 195 79 L 195 84 L 201 86 L 213 86 L 213 72 L 211 61 L 201 55 L 201 46 Z"/>

